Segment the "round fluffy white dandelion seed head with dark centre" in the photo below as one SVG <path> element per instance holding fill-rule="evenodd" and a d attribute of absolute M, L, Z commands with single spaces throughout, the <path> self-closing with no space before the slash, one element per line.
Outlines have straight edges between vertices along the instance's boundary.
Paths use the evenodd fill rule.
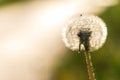
<path fill-rule="evenodd" d="M 90 14 L 73 16 L 62 32 L 65 45 L 72 50 L 94 51 L 106 40 L 107 28 L 103 20 Z"/>

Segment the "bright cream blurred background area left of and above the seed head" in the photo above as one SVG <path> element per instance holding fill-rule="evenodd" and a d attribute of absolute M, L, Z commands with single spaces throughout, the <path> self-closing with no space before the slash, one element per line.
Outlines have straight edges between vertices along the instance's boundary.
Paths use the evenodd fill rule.
<path fill-rule="evenodd" d="M 97 15 L 117 4 L 105 1 L 1 1 L 0 80 L 50 80 L 67 51 L 61 37 L 64 22 L 73 14 Z"/>

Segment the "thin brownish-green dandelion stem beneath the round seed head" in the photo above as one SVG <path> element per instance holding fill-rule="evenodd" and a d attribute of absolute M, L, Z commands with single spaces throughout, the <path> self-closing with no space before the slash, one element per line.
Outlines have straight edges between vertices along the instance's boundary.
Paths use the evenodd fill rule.
<path fill-rule="evenodd" d="M 95 80 L 95 74 L 93 71 L 90 52 L 88 51 L 85 52 L 85 58 L 86 58 L 86 64 L 87 64 L 87 69 L 88 69 L 88 74 L 89 74 L 89 80 Z"/>

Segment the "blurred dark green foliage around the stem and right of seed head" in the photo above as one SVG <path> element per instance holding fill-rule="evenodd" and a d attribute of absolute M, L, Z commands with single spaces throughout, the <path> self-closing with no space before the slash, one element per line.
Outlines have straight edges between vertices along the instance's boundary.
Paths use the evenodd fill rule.
<path fill-rule="evenodd" d="M 96 80 L 120 80 L 120 3 L 99 16 L 107 24 L 108 37 L 105 45 L 91 54 Z M 84 54 L 68 50 L 52 80 L 88 80 Z"/>

